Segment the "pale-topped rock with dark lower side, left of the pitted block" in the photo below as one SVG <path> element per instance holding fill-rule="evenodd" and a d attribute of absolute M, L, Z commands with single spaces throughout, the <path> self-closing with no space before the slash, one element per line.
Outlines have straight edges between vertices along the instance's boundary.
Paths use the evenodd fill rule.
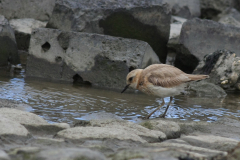
<path fill-rule="evenodd" d="M 9 23 L 15 31 L 19 50 L 28 50 L 32 30 L 36 28 L 44 28 L 47 24 L 47 22 L 41 22 L 31 18 L 11 19 Z"/>

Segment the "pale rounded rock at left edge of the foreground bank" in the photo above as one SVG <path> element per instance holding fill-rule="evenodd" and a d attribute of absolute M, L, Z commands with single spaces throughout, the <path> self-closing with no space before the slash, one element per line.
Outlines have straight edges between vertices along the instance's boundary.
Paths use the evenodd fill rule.
<path fill-rule="evenodd" d="M 25 141 L 29 138 L 28 130 L 20 123 L 0 116 L 0 136 L 2 140 Z"/>

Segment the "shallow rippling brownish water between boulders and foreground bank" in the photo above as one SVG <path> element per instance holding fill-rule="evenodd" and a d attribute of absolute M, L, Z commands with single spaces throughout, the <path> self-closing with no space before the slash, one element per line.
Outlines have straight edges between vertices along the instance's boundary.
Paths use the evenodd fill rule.
<path fill-rule="evenodd" d="M 28 104 L 30 112 L 49 122 L 70 124 L 96 112 L 109 112 L 135 121 L 162 102 L 158 97 L 138 91 L 121 94 L 86 86 L 30 81 L 24 79 L 24 74 L 18 78 L 0 76 L 0 98 Z M 165 102 L 169 102 L 169 98 L 165 98 Z M 161 108 L 152 117 L 158 117 L 164 110 L 165 107 Z M 225 98 L 175 96 L 166 118 L 211 122 L 223 116 L 240 117 L 239 93 L 229 93 Z"/>

